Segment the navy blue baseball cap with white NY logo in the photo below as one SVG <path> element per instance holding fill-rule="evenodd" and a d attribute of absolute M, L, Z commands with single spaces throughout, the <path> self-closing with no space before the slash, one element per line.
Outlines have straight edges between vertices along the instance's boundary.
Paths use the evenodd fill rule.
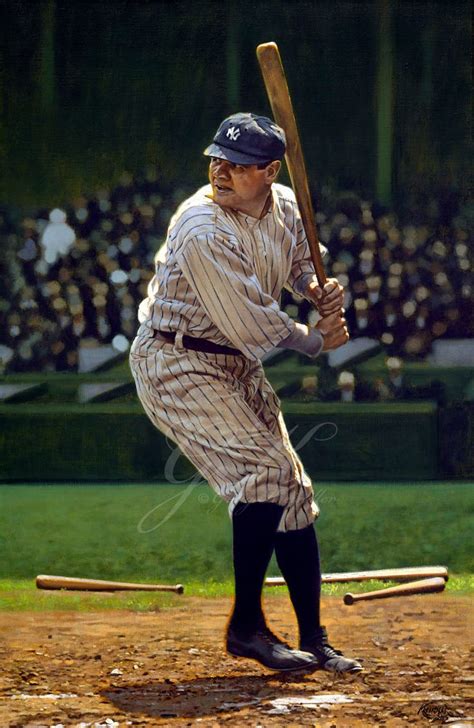
<path fill-rule="evenodd" d="M 263 164 L 282 159 L 285 149 L 285 132 L 274 121 L 239 113 L 224 119 L 204 154 L 234 164 Z"/>

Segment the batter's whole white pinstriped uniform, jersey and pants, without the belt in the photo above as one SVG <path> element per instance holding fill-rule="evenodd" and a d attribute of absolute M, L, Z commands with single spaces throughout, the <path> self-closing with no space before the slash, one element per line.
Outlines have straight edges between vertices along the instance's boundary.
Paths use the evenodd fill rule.
<path fill-rule="evenodd" d="M 229 503 L 284 507 L 279 530 L 318 514 L 260 359 L 294 329 L 278 298 L 314 273 L 293 192 L 272 186 L 261 219 L 216 205 L 203 187 L 173 216 L 130 353 L 138 396 L 153 424 Z M 156 330 L 177 332 L 174 344 Z M 186 350 L 182 335 L 233 346 L 241 356 Z"/>

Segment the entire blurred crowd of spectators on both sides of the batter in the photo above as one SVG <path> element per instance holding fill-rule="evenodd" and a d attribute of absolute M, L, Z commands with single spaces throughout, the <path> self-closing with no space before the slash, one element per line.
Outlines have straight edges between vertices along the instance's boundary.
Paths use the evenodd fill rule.
<path fill-rule="evenodd" d="M 154 167 L 124 173 L 115 188 L 73 201 L 65 210 L 72 230 L 56 248 L 46 243 L 48 226 L 65 226 L 59 211 L 13 223 L 0 210 L 0 371 L 77 370 L 81 347 L 127 351 L 156 251 L 190 192 L 167 187 Z M 327 189 L 318 209 L 328 273 L 346 288 L 352 337 L 372 337 L 389 356 L 417 359 L 436 338 L 472 335 L 472 210 L 455 195 L 448 203 L 430 200 L 407 223 Z M 282 306 L 314 321 L 309 304 L 291 292 Z"/>

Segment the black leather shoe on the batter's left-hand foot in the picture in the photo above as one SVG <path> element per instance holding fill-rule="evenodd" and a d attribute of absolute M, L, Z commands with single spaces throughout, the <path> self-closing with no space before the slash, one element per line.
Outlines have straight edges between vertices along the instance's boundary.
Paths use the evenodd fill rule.
<path fill-rule="evenodd" d="M 237 634 L 229 627 L 226 646 L 227 652 L 234 657 L 249 657 L 270 670 L 313 672 L 319 666 L 318 660 L 313 655 L 300 650 L 292 650 L 268 627 L 260 627 L 249 636 Z"/>

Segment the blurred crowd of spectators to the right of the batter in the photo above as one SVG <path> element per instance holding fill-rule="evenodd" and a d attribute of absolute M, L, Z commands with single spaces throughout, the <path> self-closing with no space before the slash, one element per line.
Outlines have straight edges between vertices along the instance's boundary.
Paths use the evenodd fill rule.
<path fill-rule="evenodd" d="M 319 212 L 329 271 L 346 288 L 352 337 L 378 340 L 389 355 L 420 359 L 434 339 L 473 335 L 472 210 L 454 195 L 430 200 L 406 224 L 355 195 Z M 315 314 L 297 296 L 286 309 L 310 323 Z"/>

